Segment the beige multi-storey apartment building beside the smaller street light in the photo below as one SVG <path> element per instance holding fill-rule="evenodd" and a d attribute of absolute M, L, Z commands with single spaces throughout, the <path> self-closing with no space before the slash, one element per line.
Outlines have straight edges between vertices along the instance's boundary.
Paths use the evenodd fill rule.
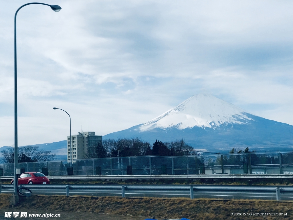
<path fill-rule="evenodd" d="M 89 151 L 102 144 L 102 136 L 95 135 L 95 132 L 79 132 L 77 135 L 71 135 L 72 161 L 77 159 L 86 159 L 89 156 Z M 68 161 L 70 161 L 70 136 L 67 136 Z"/>

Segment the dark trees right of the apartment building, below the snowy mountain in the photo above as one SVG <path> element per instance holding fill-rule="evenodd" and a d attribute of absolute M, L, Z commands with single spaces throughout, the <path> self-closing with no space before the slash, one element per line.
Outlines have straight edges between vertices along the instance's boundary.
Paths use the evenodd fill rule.
<path fill-rule="evenodd" d="M 193 147 L 185 143 L 184 139 L 162 142 L 156 140 L 151 146 L 148 141 L 140 138 L 104 139 L 88 149 L 88 158 L 132 157 L 132 156 L 183 156 L 193 154 Z"/>

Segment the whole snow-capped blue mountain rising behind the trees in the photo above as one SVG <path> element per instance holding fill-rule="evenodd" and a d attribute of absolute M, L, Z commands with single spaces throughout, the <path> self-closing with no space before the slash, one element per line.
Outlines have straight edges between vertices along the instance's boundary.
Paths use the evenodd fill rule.
<path fill-rule="evenodd" d="M 195 149 L 213 152 L 246 147 L 259 152 L 293 150 L 292 125 L 256 116 L 209 94 L 194 95 L 151 121 L 103 139 L 135 137 L 150 143 L 183 138 Z"/>

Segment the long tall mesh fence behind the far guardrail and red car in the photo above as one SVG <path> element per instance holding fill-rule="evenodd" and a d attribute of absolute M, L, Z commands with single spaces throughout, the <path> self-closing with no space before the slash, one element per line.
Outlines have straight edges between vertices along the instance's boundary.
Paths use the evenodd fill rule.
<path fill-rule="evenodd" d="M 189 174 L 293 174 L 293 153 L 240 153 L 200 156 L 137 156 L 76 160 L 72 163 L 74 175 L 127 175 L 131 165 L 132 175 L 189 175 Z M 42 172 L 48 175 L 67 175 L 66 161 L 18 163 L 25 172 Z M 127 168 L 128 167 L 128 168 Z M 0 164 L 0 175 L 13 176 L 14 165 Z"/>

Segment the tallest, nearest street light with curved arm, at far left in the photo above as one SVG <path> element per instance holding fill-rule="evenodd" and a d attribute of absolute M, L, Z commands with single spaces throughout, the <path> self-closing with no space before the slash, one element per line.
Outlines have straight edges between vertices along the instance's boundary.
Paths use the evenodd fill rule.
<path fill-rule="evenodd" d="M 44 3 L 32 2 L 28 4 L 24 4 L 23 6 L 19 7 L 14 16 L 14 181 L 13 181 L 13 188 L 14 193 L 13 196 L 15 197 L 14 205 L 18 203 L 18 182 L 17 182 L 17 174 L 16 168 L 18 167 L 18 143 L 17 143 L 17 80 L 16 80 L 16 15 L 17 12 L 26 5 L 31 4 L 40 4 L 40 5 L 47 5 L 50 6 L 53 11 L 60 11 L 61 7 L 59 5 L 48 5 Z"/>

